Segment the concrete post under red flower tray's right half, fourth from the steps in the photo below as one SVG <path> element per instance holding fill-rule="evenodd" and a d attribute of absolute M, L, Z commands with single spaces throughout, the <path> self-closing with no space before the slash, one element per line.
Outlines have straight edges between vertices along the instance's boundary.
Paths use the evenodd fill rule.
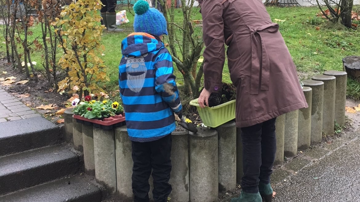
<path fill-rule="evenodd" d="M 115 193 L 117 189 L 114 130 L 94 127 L 93 131 L 96 181 L 103 184 L 108 193 Z"/>

